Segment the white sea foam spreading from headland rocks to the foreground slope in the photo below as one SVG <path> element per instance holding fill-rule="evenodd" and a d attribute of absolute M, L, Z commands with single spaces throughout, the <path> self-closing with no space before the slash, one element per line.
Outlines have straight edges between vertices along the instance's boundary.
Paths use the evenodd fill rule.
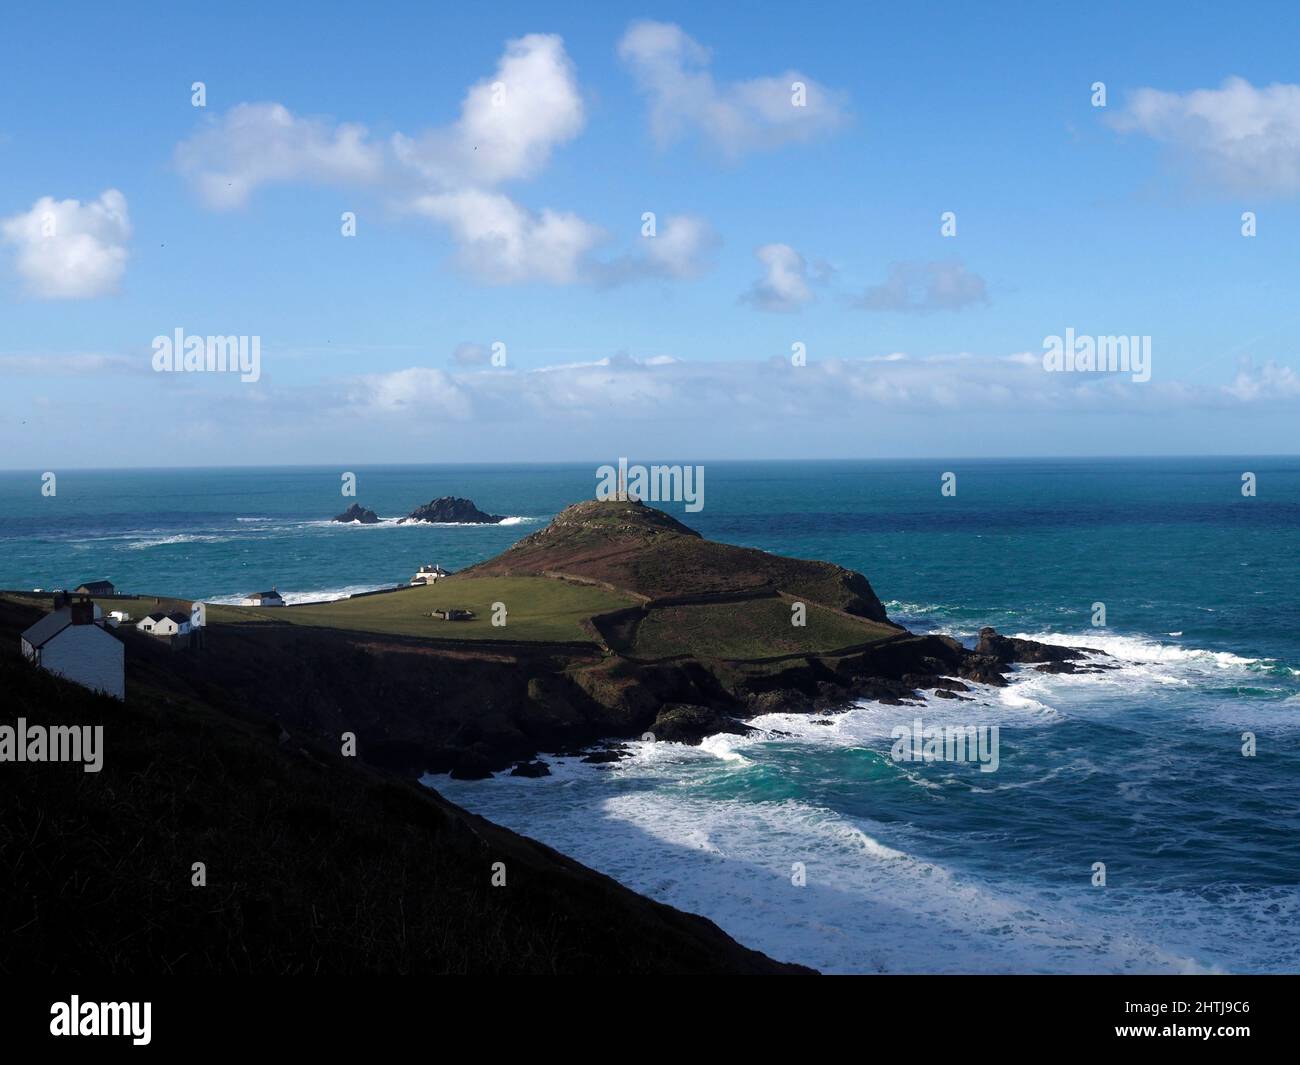
<path fill-rule="evenodd" d="M 927 861 L 916 824 L 857 819 L 807 801 L 751 801 L 754 772 L 800 765 L 798 752 L 763 757 L 770 744 L 814 750 L 875 750 L 896 724 L 1058 726 L 1071 718 L 1124 714 L 1135 692 L 1176 700 L 1178 728 L 1197 718 L 1188 693 L 1200 685 L 1257 683 L 1268 659 L 1187 648 L 1106 631 L 1036 632 L 1046 642 L 1109 653 L 1100 674 L 1044 674 L 1018 667 L 1006 687 L 968 683 L 970 701 L 926 694 L 923 706 L 863 701 L 842 714 L 767 714 L 759 733 L 714 736 L 699 746 L 629 744 L 608 766 L 550 759 L 552 776 L 495 782 L 430 780 L 451 798 L 612 875 L 636 891 L 702 913 L 746 945 L 824 971 L 926 973 L 1196 973 L 1216 969 L 1292 971 L 1300 945 L 1295 887 L 1240 889 L 1228 899 L 1148 886 L 1098 889 L 1082 861 L 1078 883 L 1048 889 L 1014 870 L 996 882 Z M 1283 690 L 1283 689 L 1279 689 Z M 1249 706 L 1297 717 L 1295 701 Z M 1231 717 L 1235 703 L 1219 711 Z M 1290 703 L 1290 705 L 1288 705 Z M 1161 707 L 1158 700 L 1148 703 Z M 1054 787 L 1091 766 L 1044 767 L 1027 779 L 967 780 L 979 792 Z M 933 774 L 900 766 L 918 795 L 941 797 Z M 889 837 L 889 841 L 883 841 Z M 794 887 L 796 862 L 807 884 Z"/>

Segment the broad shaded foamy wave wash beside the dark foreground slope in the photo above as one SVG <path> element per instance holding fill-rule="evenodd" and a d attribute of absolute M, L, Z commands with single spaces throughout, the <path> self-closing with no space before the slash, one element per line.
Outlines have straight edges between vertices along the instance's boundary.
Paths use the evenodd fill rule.
<path fill-rule="evenodd" d="M 750 947 L 827 973 L 1196 973 L 1295 964 L 1296 948 L 1278 940 L 1300 913 L 1294 888 L 1244 895 L 1239 915 L 1256 923 L 1243 935 L 1242 922 L 1223 921 L 1221 902 L 1195 895 L 1102 899 L 1088 887 L 1087 867 L 1075 891 L 1015 879 L 992 884 L 885 841 L 885 826 L 815 804 L 702 798 L 692 774 L 708 775 L 707 762 L 716 761 L 677 754 L 672 765 L 619 763 L 637 778 L 634 788 L 572 762 L 560 767 L 567 787 L 543 778 L 519 787 L 515 779 L 506 787 L 439 779 L 438 788 L 634 891 L 705 914 Z M 1223 956 L 1232 964 L 1214 960 Z"/>

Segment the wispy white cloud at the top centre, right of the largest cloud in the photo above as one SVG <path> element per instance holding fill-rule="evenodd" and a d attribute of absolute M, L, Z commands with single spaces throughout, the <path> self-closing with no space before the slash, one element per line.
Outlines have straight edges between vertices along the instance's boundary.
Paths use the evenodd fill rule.
<path fill-rule="evenodd" d="M 845 95 L 797 70 L 718 83 L 708 72 L 708 49 L 671 22 L 632 23 L 619 56 L 650 98 L 650 129 L 660 146 L 697 133 L 734 159 L 807 142 L 848 122 Z M 801 107 L 796 83 L 803 86 Z"/>

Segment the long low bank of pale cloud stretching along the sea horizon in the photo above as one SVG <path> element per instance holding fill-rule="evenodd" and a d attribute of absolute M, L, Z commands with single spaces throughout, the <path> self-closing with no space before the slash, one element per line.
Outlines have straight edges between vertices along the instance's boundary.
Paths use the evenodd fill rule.
<path fill-rule="evenodd" d="M 21 417 L 0 419 L 0 446 L 12 464 L 75 464 L 88 432 L 103 458 L 156 462 L 113 429 L 157 408 L 162 384 L 173 420 L 191 429 L 166 456 L 177 464 L 211 458 L 214 447 L 231 460 L 361 455 L 382 463 L 420 451 L 519 462 L 537 458 L 538 441 L 551 459 L 581 462 L 846 456 L 864 454 L 863 424 L 874 429 L 872 455 L 1098 454 L 1098 445 L 1105 454 L 1196 454 L 1206 440 L 1282 454 L 1300 407 L 1300 376 L 1279 364 L 1201 385 L 1173 380 L 1160 372 L 1162 362 L 1145 384 L 1128 375 L 1046 373 L 1035 351 L 842 359 L 812 347 L 809 355 L 803 367 L 784 352 L 744 362 L 612 355 L 528 372 L 407 367 L 299 386 L 264 377 L 256 389 L 237 385 L 218 399 L 151 373 L 153 388 L 130 382 L 109 402 L 105 369 L 60 377 L 51 388 L 61 408 L 77 411 L 81 436 L 69 436 L 66 417 L 42 420 L 39 399 L 22 401 L 14 407 Z M 269 408 L 280 416 L 266 417 Z M 344 421 L 346 440 L 338 432 Z"/>

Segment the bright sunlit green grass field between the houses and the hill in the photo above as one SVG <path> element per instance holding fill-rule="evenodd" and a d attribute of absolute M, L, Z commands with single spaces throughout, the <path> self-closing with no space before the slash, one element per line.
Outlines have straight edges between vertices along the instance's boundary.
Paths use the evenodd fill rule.
<path fill-rule="evenodd" d="M 506 605 L 506 624 L 491 623 L 493 603 Z M 395 636 L 456 640 L 590 641 L 581 622 L 593 614 L 630 606 L 632 599 L 603 588 L 547 577 L 451 577 L 434 585 L 311 606 L 209 606 L 208 622 L 289 623 Z M 473 620 L 426 616 L 436 609 L 474 611 Z"/>

